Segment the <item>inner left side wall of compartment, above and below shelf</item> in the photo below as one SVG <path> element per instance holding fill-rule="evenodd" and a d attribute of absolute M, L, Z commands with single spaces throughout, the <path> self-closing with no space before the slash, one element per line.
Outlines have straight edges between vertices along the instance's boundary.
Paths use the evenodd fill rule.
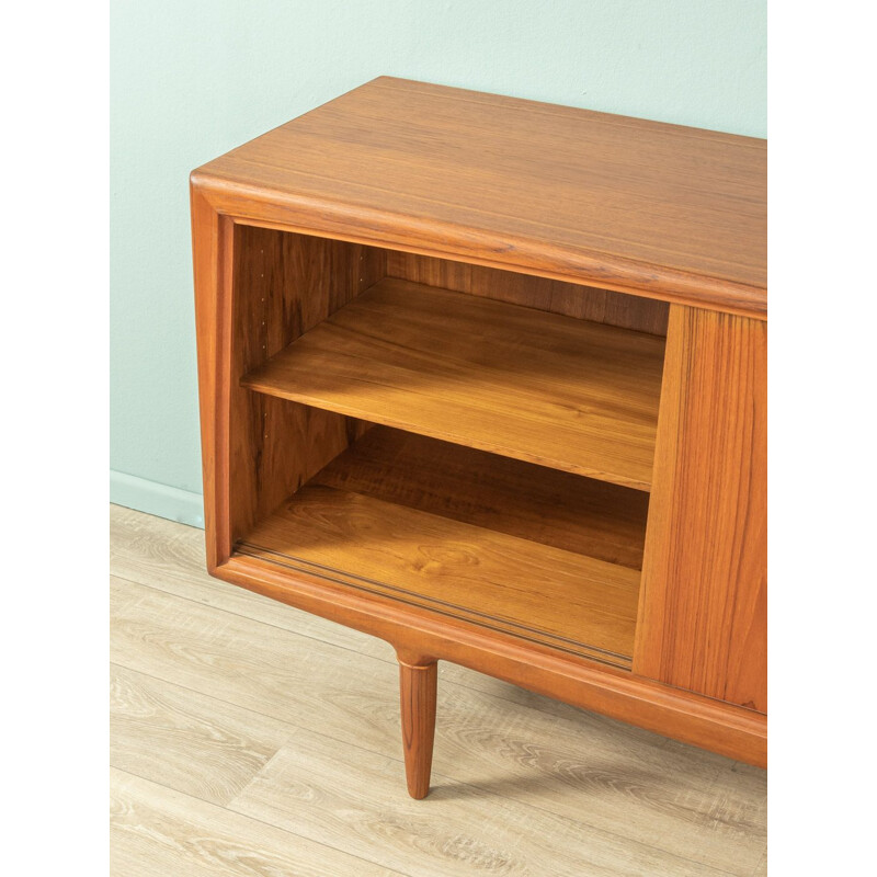
<path fill-rule="evenodd" d="M 235 227 L 230 380 L 230 538 L 243 536 L 361 432 L 356 421 L 254 394 L 247 372 L 384 276 L 381 250 Z"/>

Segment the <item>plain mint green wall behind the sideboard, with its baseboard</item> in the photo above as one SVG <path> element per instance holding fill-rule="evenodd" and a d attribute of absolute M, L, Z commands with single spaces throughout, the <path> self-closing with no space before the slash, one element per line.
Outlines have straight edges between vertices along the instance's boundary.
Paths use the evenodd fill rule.
<path fill-rule="evenodd" d="M 111 9 L 111 498 L 189 523 L 201 500 L 192 168 L 383 73 L 766 136 L 765 0 Z"/>

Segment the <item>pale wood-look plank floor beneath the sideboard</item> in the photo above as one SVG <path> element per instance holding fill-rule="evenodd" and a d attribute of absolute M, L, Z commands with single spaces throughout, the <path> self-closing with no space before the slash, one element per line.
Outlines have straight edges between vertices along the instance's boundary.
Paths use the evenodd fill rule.
<path fill-rule="evenodd" d="M 767 873 L 764 771 L 447 663 L 411 800 L 389 646 L 111 522 L 114 877 Z"/>

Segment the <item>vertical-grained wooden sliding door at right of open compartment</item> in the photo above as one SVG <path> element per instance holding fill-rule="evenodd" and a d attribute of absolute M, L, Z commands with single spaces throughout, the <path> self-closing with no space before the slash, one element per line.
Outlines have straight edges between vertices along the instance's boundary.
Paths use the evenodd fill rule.
<path fill-rule="evenodd" d="M 670 309 L 634 672 L 767 709 L 767 328 Z"/>

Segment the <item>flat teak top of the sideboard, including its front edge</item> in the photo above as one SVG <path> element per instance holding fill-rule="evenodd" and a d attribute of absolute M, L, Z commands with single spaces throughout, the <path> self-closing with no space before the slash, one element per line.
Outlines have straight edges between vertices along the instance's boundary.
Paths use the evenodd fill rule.
<path fill-rule="evenodd" d="M 380 77 L 205 164 L 217 209 L 766 315 L 766 141 Z"/>

